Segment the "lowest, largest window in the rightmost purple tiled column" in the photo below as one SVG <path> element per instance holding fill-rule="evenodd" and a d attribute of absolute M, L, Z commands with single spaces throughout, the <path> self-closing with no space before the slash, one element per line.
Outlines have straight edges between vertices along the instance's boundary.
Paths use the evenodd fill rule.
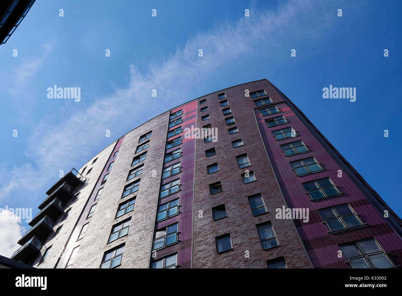
<path fill-rule="evenodd" d="M 340 245 L 343 257 L 351 268 L 394 268 L 388 255 L 374 238 Z"/>

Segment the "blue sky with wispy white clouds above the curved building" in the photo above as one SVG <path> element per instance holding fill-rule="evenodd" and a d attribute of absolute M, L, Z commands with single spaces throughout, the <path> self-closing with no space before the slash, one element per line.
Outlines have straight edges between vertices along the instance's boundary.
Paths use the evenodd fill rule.
<path fill-rule="evenodd" d="M 35 215 L 59 170 L 176 105 L 267 78 L 402 215 L 399 2 L 113 2 L 37 0 L 0 46 L 0 208 Z M 80 87 L 80 102 L 48 99 L 54 84 Z M 323 99 L 330 84 L 356 87 L 356 101 Z M 2 220 L 10 256 L 29 226 Z"/>

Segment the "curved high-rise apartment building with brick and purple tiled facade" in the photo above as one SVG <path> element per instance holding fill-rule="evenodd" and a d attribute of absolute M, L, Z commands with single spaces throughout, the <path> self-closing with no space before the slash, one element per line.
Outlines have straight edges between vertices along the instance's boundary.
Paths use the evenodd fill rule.
<path fill-rule="evenodd" d="M 401 219 L 265 79 L 154 117 L 46 193 L 12 256 L 37 268 L 402 264 Z"/>

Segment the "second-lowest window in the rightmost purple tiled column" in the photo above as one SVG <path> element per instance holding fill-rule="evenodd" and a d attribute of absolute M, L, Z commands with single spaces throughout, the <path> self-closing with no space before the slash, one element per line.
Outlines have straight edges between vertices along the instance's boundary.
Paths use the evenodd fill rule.
<path fill-rule="evenodd" d="M 318 210 L 330 233 L 363 226 L 349 204 Z"/>

